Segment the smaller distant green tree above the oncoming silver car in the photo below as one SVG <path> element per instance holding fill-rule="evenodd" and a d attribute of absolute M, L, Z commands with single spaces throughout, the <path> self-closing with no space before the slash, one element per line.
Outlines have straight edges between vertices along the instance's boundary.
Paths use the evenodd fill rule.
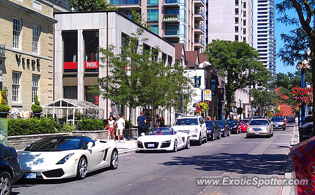
<path fill-rule="evenodd" d="M 278 103 L 278 96 L 275 94 L 275 92 L 252 88 L 250 90 L 250 94 L 253 97 L 252 104 L 254 106 L 260 106 L 262 113 L 265 113 L 268 107 L 276 106 Z"/>

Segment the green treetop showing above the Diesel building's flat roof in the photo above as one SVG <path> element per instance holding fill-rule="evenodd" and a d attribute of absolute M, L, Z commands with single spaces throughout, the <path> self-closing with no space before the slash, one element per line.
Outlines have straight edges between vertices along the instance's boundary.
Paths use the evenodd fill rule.
<path fill-rule="evenodd" d="M 68 5 L 78 11 L 115 10 L 107 0 L 68 0 Z"/>

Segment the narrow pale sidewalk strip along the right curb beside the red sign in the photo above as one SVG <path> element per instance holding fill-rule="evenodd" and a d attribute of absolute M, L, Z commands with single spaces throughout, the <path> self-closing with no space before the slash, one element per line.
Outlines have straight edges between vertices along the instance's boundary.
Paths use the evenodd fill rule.
<path fill-rule="evenodd" d="M 299 143 L 299 131 L 298 131 L 298 126 L 294 127 L 293 134 L 291 137 L 291 142 L 289 148 L 291 148 L 293 145 Z M 290 149 L 288 148 L 287 154 L 287 163 L 285 167 L 285 172 L 284 172 L 284 178 L 292 178 L 292 164 L 291 164 L 291 155 L 290 155 Z M 294 194 L 294 186 L 283 186 L 281 195 L 295 195 Z"/>

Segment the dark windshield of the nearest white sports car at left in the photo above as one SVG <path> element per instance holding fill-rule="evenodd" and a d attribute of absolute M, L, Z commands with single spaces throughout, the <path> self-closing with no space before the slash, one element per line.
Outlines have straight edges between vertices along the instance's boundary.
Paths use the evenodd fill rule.
<path fill-rule="evenodd" d="M 26 151 L 63 151 L 80 149 L 80 137 L 54 137 L 40 139 L 29 147 Z"/>

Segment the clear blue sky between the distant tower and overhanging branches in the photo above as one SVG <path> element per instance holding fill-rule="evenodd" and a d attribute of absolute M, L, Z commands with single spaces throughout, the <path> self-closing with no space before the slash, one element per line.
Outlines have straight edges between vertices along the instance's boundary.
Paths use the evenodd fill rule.
<path fill-rule="evenodd" d="M 281 2 L 282 0 L 276 0 L 276 4 Z M 287 12 L 288 15 L 294 15 L 297 16 L 295 13 L 295 10 L 290 10 L 289 12 Z M 276 36 L 276 51 L 277 53 L 279 52 L 279 49 L 283 47 L 284 43 L 281 40 L 280 34 L 282 33 L 287 33 L 289 32 L 291 29 L 294 29 L 296 27 L 292 27 L 292 26 L 285 26 L 285 24 L 282 23 L 278 23 L 277 22 L 277 18 L 279 18 L 279 14 L 278 14 L 278 10 L 275 10 L 275 36 Z M 297 69 L 295 68 L 295 66 L 287 66 L 285 67 L 284 64 L 280 61 L 280 57 L 276 58 L 276 73 L 287 73 L 287 72 L 295 72 Z"/>

